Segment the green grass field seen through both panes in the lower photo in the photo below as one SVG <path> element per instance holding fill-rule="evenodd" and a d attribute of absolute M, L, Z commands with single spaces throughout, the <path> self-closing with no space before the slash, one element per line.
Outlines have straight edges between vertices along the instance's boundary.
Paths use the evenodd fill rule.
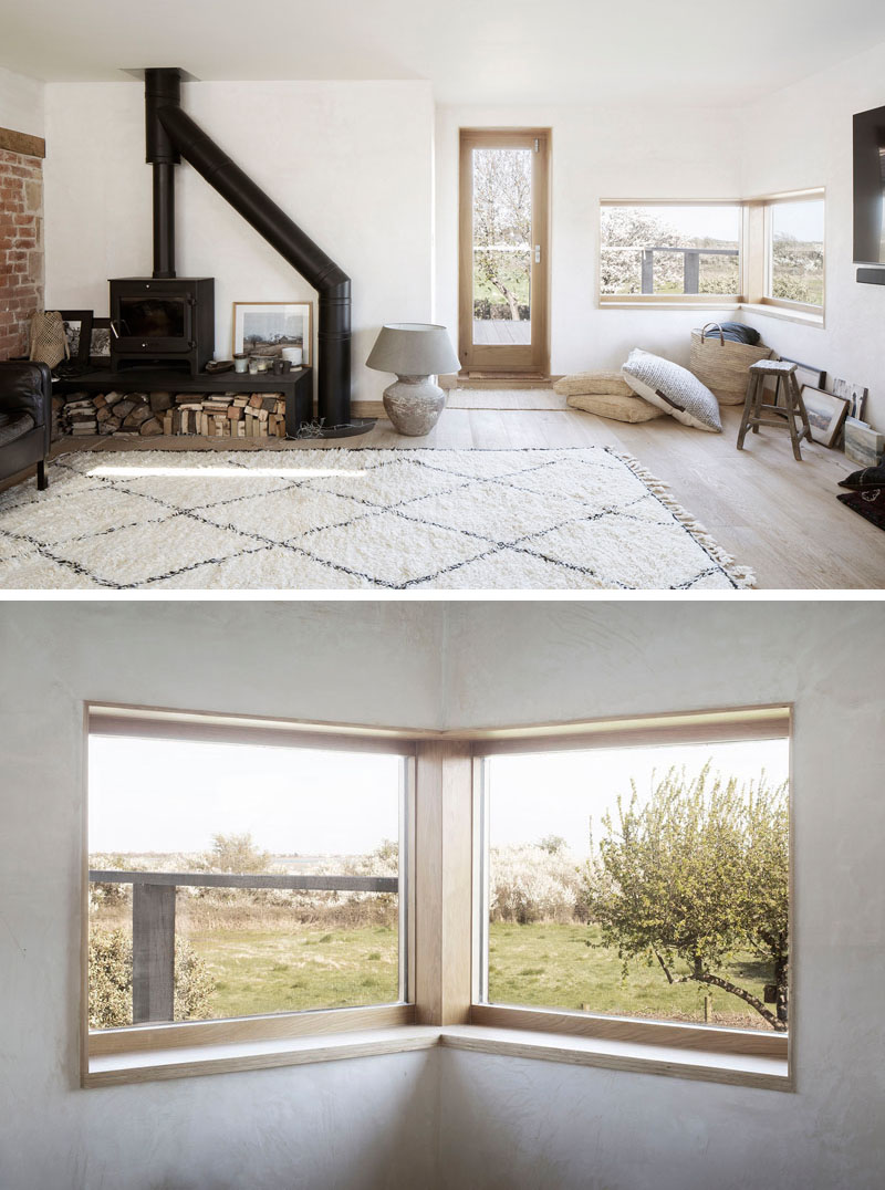
<path fill-rule="evenodd" d="M 388 926 L 294 929 L 187 931 L 216 984 L 211 1015 L 241 1016 L 306 1008 L 343 1008 L 395 1001 L 397 931 Z M 593 945 L 588 946 L 587 941 Z M 704 1019 L 699 984 L 671 987 L 655 964 L 631 962 L 627 982 L 617 953 L 600 948 L 597 927 L 517 926 L 490 931 L 490 1000 L 497 1003 L 586 1009 L 627 1016 Z M 760 998 L 765 966 L 737 956 L 727 972 Z M 713 1020 L 767 1026 L 728 992 L 712 990 Z"/>

